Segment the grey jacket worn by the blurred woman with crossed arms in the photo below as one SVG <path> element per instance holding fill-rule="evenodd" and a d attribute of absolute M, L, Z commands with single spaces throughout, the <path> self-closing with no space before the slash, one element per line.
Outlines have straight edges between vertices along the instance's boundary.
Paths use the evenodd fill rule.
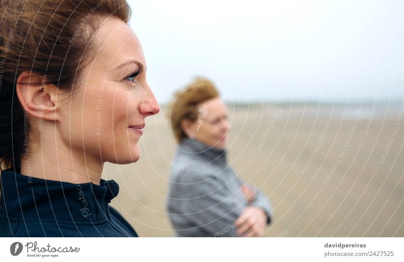
<path fill-rule="evenodd" d="M 262 208 L 271 222 L 268 198 L 257 190 L 248 204 L 240 189 L 244 182 L 227 165 L 225 150 L 185 139 L 171 165 L 166 204 L 176 236 L 236 237 L 234 222 L 247 206 Z"/>

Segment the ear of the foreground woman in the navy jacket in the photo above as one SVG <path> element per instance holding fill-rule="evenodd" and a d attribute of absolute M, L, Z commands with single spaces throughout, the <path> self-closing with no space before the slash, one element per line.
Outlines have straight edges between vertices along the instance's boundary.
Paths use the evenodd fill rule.
<path fill-rule="evenodd" d="M 27 113 L 51 121 L 60 120 L 57 110 L 59 105 L 56 103 L 57 91 L 55 85 L 46 83 L 46 75 L 40 76 L 29 71 L 21 73 L 16 83 L 18 99 Z"/>

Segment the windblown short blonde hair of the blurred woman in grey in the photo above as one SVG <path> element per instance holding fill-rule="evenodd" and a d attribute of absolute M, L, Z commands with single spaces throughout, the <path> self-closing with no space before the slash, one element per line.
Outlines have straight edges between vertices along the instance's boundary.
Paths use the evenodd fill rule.
<path fill-rule="evenodd" d="M 175 92 L 174 99 L 168 108 L 168 118 L 175 139 L 181 143 L 188 136 L 181 127 L 181 122 L 188 119 L 191 122 L 198 118 L 198 105 L 207 100 L 219 97 L 215 84 L 207 78 L 196 77 L 183 90 Z"/>

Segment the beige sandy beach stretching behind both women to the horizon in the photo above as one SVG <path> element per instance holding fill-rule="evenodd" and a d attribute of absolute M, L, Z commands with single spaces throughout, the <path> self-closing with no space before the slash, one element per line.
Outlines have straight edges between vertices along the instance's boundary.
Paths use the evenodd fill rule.
<path fill-rule="evenodd" d="M 228 105 L 228 162 L 274 208 L 264 236 L 403 237 L 403 109 Z M 112 206 L 143 237 L 173 236 L 165 202 L 176 143 L 165 115 L 146 118 L 138 162 L 107 163 L 103 174 L 120 185 Z"/>

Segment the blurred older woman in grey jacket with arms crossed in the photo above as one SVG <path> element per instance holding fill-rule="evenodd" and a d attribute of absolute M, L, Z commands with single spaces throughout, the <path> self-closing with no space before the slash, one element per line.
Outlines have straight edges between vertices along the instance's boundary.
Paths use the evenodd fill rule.
<path fill-rule="evenodd" d="M 215 85 L 196 78 L 175 94 L 169 117 L 179 143 L 167 200 L 176 235 L 261 236 L 271 204 L 227 164 L 230 126 Z"/>

